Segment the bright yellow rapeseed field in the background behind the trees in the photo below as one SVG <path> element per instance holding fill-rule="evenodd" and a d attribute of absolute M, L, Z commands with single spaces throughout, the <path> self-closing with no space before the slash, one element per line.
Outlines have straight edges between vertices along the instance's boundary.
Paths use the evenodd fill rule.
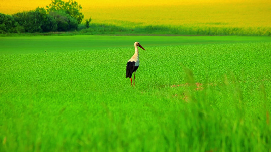
<path fill-rule="evenodd" d="M 3 0 L 2 0 L 3 1 Z M 181 34 L 265 35 L 271 33 L 270 1 L 77 1 L 93 24 L 174 29 Z M 51 1 L 3 1 L 2 13 L 45 7 Z M 174 33 L 172 33 L 174 34 Z"/>

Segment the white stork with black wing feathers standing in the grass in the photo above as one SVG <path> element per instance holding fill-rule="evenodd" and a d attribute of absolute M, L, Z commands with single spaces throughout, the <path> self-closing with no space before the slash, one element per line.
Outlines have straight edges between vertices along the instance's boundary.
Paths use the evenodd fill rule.
<path fill-rule="evenodd" d="M 136 70 L 138 69 L 138 66 L 139 66 L 138 47 L 140 47 L 143 50 L 145 50 L 139 44 L 139 42 L 135 42 L 134 45 L 135 45 L 135 54 L 131 57 L 130 60 L 128 60 L 128 62 L 126 64 L 126 78 L 129 77 L 131 79 L 131 86 L 133 86 L 133 83 L 132 83 L 132 74 L 133 74 L 133 72 L 136 73 Z M 134 74 L 134 86 L 135 86 L 135 74 Z"/>

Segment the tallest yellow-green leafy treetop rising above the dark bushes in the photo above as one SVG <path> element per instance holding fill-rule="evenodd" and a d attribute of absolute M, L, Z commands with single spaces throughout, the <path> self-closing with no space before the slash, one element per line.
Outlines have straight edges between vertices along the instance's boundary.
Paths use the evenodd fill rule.
<path fill-rule="evenodd" d="M 52 3 L 49 4 L 49 6 L 46 6 L 46 8 L 48 13 L 54 11 L 64 11 L 76 19 L 78 24 L 80 24 L 84 18 L 83 13 L 81 12 L 82 6 L 73 0 L 69 0 L 68 2 L 52 0 Z"/>

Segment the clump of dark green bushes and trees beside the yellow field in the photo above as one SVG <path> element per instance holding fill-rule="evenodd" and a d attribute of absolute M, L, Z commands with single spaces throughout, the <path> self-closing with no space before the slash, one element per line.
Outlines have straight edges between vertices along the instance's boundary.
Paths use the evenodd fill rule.
<path fill-rule="evenodd" d="M 38 7 L 12 15 L 0 13 L 0 33 L 77 30 L 84 18 L 81 10 L 81 5 L 76 1 L 52 0 L 46 9 Z"/>

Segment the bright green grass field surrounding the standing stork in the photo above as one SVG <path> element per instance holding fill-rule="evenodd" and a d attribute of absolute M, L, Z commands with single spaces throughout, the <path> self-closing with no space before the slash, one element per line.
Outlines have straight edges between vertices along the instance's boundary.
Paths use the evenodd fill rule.
<path fill-rule="evenodd" d="M 131 87 L 135 41 L 146 51 Z M 270 37 L 0 37 L 0 46 L 0 151 L 271 149 Z"/>

